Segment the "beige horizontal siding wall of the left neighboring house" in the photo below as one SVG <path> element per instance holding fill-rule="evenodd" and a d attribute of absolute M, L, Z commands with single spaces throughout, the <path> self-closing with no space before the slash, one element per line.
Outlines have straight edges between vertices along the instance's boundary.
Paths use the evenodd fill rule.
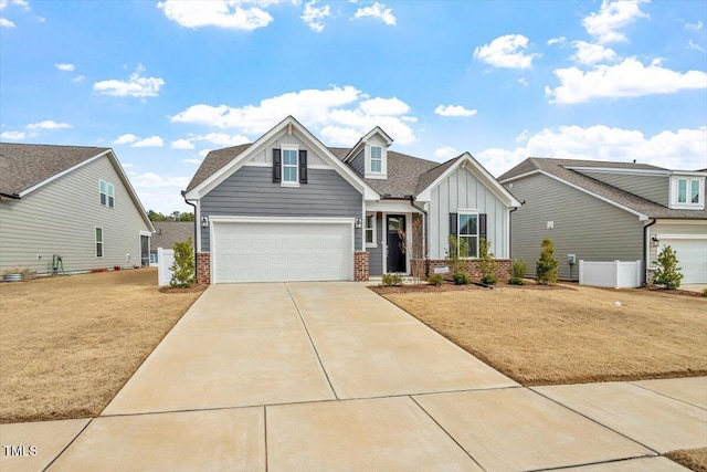
<path fill-rule="evenodd" d="M 115 208 L 101 204 L 98 180 L 115 186 Z M 96 227 L 103 228 L 103 258 L 96 258 Z M 46 273 L 53 254 L 62 256 L 67 272 L 140 265 L 140 231 L 150 229 L 103 156 L 20 200 L 0 201 L 0 270 Z"/>

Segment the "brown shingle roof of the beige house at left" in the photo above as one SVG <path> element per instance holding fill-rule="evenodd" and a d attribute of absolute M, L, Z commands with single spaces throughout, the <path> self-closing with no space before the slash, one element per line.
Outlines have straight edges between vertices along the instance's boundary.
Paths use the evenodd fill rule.
<path fill-rule="evenodd" d="M 0 143 L 0 193 L 20 193 L 107 150 L 105 147 Z"/>

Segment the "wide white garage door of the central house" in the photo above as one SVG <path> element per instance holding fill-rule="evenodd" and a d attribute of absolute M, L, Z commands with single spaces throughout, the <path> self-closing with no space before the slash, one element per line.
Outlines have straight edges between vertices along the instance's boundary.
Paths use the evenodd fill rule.
<path fill-rule="evenodd" d="M 354 280 L 349 222 L 213 222 L 213 283 Z"/>

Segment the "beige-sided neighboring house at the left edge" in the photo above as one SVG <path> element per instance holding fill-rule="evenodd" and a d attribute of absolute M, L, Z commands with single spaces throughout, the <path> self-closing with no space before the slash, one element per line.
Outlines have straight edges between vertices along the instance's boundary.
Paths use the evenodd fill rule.
<path fill-rule="evenodd" d="M 112 149 L 0 143 L 0 271 L 148 265 L 154 231 Z"/>

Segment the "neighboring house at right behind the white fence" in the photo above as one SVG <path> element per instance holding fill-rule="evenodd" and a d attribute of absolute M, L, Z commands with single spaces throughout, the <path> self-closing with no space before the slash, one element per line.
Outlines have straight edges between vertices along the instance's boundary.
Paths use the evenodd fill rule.
<path fill-rule="evenodd" d="M 560 279 L 578 279 L 568 262 L 576 254 L 577 262 L 640 260 L 645 281 L 671 245 L 683 283 L 707 283 L 706 178 L 705 170 L 528 158 L 498 178 L 523 201 L 511 214 L 511 255 L 528 261 L 530 274 L 550 238 Z"/>

